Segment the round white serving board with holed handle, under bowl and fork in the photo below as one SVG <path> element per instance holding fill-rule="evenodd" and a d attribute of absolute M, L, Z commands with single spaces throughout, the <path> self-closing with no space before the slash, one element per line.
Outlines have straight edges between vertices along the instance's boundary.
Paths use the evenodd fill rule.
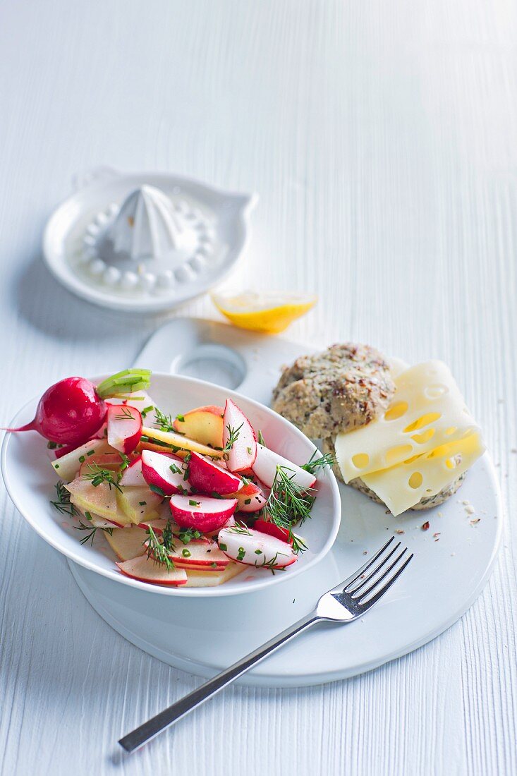
<path fill-rule="evenodd" d="M 178 319 L 154 334 L 137 363 L 196 376 L 201 372 L 268 402 L 280 366 L 309 349 L 225 324 Z M 460 618 L 488 580 L 502 511 L 488 455 L 467 474 L 458 494 L 435 510 L 393 518 L 355 490 L 340 490 L 342 525 L 324 560 L 307 573 L 247 596 L 158 598 L 69 563 L 85 597 L 117 632 L 165 663 L 209 677 L 307 614 L 321 592 L 364 562 L 364 552 L 403 530 L 399 538 L 415 559 L 380 605 L 350 625 L 325 625 L 302 634 L 242 683 L 297 687 L 352 677 L 415 650 Z M 474 514 L 467 514 L 463 500 L 474 506 Z M 481 520 L 471 525 L 477 517 Z M 430 528 L 424 532 L 427 520 Z"/>

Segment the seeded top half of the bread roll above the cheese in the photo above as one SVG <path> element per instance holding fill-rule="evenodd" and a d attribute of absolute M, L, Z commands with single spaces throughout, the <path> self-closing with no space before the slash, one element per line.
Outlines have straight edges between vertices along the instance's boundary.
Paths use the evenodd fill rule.
<path fill-rule="evenodd" d="M 283 370 L 272 408 L 310 438 L 352 431 L 385 411 L 394 396 L 390 366 L 369 345 L 332 345 Z"/>

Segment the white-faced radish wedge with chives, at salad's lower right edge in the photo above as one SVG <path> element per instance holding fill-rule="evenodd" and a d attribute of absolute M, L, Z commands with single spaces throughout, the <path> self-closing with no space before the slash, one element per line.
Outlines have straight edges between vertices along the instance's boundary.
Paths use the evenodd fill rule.
<path fill-rule="evenodd" d="M 245 526 L 223 528 L 217 542 L 225 555 L 248 566 L 283 569 L 297 560 L 287 542 Z"/>

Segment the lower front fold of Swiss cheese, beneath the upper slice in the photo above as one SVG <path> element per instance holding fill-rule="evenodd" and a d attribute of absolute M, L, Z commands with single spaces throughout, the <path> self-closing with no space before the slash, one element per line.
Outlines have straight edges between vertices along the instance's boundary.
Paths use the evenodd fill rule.
<path fill-rule="evenodd" d="M 439 493 L 466 472 L 483 452 L 481 436 L 474 432 L 390 469 L 365 474 L 361 479 L 397 515 L 422 498 Z"/>

